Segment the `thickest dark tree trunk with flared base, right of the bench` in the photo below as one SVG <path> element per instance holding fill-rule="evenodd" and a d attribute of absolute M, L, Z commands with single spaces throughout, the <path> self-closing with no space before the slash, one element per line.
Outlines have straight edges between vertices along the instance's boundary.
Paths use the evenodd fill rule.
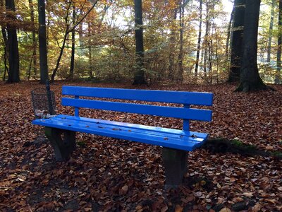
<path fill-rule="evenodd" d="M 257 33 L 259 28 L 260 1 L 247 0 L 243 31 L 243 58 L 240 69 L 240 84 L 236 91 L 266 90 L 257 68 Z"/>

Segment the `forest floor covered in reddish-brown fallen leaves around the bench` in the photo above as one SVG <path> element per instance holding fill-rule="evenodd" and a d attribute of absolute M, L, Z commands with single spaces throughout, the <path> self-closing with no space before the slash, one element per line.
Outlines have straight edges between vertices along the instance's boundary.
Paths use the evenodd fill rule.
<path fill-rule="evenodd" d="M 233 93 L 235 86 L 140 86 L 56 82 L 62 85 L 188 90 L 214 93 L 213 121 L 192 122 L 193 131 L 282 151 L 282 86 L 274 91 Z M 38 83 L 0 83 L 0 211 L 282 211 L 282 162 L 189 152 L 188 175 L 177 190 L 164 190 L 161 147 L 77 134 L 80 145 L 66 163 L 56 163 L 44 129 L 34 118 L 30 91 Z M 44 88 L 44 86 L 42 86 Z M 86 117 L 181 128 L 178 119 L 82 110 Z"/>

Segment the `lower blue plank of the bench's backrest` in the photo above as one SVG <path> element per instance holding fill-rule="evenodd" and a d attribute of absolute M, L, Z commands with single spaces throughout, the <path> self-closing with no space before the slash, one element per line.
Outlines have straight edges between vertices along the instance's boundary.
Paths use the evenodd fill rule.
<path fill-rule="evenodd" d="M 192 119 L 207 122 L 210 122 L 212 120 L 212 110 L 188 109 L 183 107 L 164 107 L 156 105 L 140 105 L 123 102 L 105 102 L 72 98 L 62 98 L 61 103 L 63 106 L 86 107 L 91 109 L 131 112 L 137 114 L 150 114 L 178 119 Z"/>

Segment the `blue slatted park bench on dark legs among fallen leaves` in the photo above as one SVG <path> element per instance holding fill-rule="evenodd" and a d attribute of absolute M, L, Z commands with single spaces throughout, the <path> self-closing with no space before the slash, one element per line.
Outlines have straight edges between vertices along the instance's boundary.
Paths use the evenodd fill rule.
<path fill-rule="evenodd" d="M 63 86 L 62 94 L 68 97 L 62 98 L 61 104 L 74 107 L 74 116 L 59 114 L 32 121 L 33 124 L 45 126 L 45 134 L 54 148 L 56 160 L 68 160 L 75 150 L 76 131 L 163 146 L 167 187 L 181 184 L 188 167 L 187 151 L 202 146 L 208 137 L 208 134 L 190 131 L 189 120 L 212 120 L 212 110 L 190 108 L 190 105 L 212 106 L 212 93 Z M 145 105 L 136 101 L 164 102 L 164 105 L 170 106 Z M 172 104 L 177 104 L 177 107 L 172 107 Z M 183 119 L 183 129 L 80 117 L 79 110 L 82 107 Z"/>

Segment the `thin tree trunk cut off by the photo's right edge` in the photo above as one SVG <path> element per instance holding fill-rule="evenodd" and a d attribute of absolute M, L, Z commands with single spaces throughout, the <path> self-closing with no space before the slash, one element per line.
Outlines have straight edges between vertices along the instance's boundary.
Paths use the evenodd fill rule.
<path fill-rule="evenodd" d="M 278 48 L 277 48 L 277 68 L 274 83 L 279 83 L 281 73 L 281 45 L 282 45 L 282 0 L 279 0 L 278 11 Z"/>

